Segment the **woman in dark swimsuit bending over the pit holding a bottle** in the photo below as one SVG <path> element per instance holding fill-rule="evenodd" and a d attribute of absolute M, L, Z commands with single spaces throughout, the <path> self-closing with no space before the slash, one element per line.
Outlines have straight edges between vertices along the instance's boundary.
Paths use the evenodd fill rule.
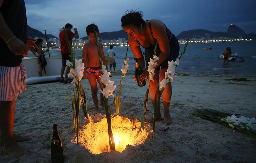
<path fill-rule="evenodd" d="M 143 14 L 140 11 L 126 11 L 126 14 L 121 18 L 122 28 L 128 34 L 128 43 L 130 49 L 132 50 L 134 57 L 138 58 L 139 64 L 143 68 L 143 73 L 140 76 L 140 79 L 146 80 L 149 73 L 147 71 L 148 62 L 150 58 L 153 58 L 153 53 L 155 49 L 156 41 L 160 39 L 156 55 L 159 57 L 159 60 L 156 61 L 157 65 L 154 67 L 155 75 L 154 81 L 151 81 L 150 84 L 150 97 L 152 103 L 154 104 L 155 93 L 157 92 L 157 98 L 159 96 L 159 79 L 160 81 L 165 78 L 166 69 L 168 69 L 168 61 L 175 61 L 179 56 L 179 42 L 175 35 L 165 26 L 165 24 L 158 19 L 151 19 L 144 21 L 142 19 Z M 145 48 L 145 60 L 140 48 L 140 45 Z M 159 77 L 160 76 L 160 77 Z M 164 92 L 162 93 L 163 101 L 170 101 L 172 96 L 172 85 L 169 82 Z M 164 123 L 171 124 L 172 118 L 169 114 L 169 102 L 164 103 Z M 158 111 L 155 116 L 156 120 L 161 119 L 160 106 L 158 106 Z M 152 118 L 149 118 L 148 121 L 152 122 Z"/>

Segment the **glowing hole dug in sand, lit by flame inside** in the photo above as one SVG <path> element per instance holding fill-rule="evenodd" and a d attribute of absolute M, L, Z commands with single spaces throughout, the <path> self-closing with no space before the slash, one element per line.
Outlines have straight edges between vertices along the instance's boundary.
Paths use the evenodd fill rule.
<path fill-rule="evenodd" d="M 85 125 L 81 126 L 79 137 L 80 145 L 84 145 L 92 154 L 108 152 L 108 124 L 105 115 L 92 115 L 89 121 L 85 118 Z M 117 116 L 111 118 L 112 132 L 115 140 L 116 151 L 122 152 L 129 145 L 138 145 L 145 142 L 151 132 L 148 123 L 145 123 L 145 131 L 137 119 Z M 119 136 L 119 138 L 118 138 Z M 118 140 L 120 140 L 118 142 Z"/>

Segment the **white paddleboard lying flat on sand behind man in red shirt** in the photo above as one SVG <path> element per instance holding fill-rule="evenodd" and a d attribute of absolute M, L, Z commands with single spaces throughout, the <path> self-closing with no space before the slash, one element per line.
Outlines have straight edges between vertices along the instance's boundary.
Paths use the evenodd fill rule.
<path fill-rule="evenodd" d="M 49 82 L 49 81 L 59 81 L 59 79 L 60 79 L 60 75 L 31 77 L 31 78 L 27 78 L 26 84 L 30 85 L 30 84 Z M 73 78 L 68 78 L 68 80 L 73 80 Z"/>

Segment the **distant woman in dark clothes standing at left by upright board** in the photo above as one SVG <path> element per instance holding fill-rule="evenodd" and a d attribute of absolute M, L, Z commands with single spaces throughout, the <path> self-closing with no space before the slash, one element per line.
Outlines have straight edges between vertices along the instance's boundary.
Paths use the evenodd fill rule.
<path fill-rule="evenodd" d="M 41 77 L 42 76 L 42 72 L 43 72 L 43 68 L 44 68 L 44 61 L 45 61 L 45 52 L 47 52 L 47 50 L 43 50 L 42 48 L 42 44 L 43 44 L 43 39 L 37 39 L 37 41 L 35 42 L 35 44 L 38 47 L 37 51 L 37 63 L 39 64 L 39 70 L 38 70 L 38 75 Z"/>

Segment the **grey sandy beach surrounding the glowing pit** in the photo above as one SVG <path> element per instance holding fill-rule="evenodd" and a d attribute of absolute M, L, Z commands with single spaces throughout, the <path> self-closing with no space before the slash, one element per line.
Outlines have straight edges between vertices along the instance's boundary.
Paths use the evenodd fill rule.
<path fill-rule="evenodd" d="M 115 81 L 119 92 L 120 71 L 112 73 L 110 80 Z M 247 78 L 250 81 L 228 81 L 225 79 Z M 94 104 L 88 80 L 82 79 L 87 98 L 88 113 L 95 122 L 104 118 L 104 109 L 94 115 Z M 92 154 L 87 148 L 86 134 L 80 137 L 81 145 L 76 143 L 76 130 L 73 130 L 71 97 L 73 84 L 43 83 L 27 85 L 27 91 L 21 93 L 16 101 L 14 133 L 32 137 L 30 141 L 19 142 L 30 149 L 32 155 L 20 158 L 3 154 L 0 146 L 1 163 L 49 163 L 51 162 L 51 143 L 53 124 L 59 126 L 60 138 L 64 146 L 65 163 L 113 162 L 113 163 L 154 163 L 154 162 L 195 162 L 195 163 L 252 163 L 256 162 L 256 138 L 203 118 L 191 115 L 196 109 L 214 109 L 221 112 L 239 113 L 242 116 L 256 117 L 256 77 L 242 76 L 177 76 L 172 82 L 173 93 L 170 115 L 173 124 L 166 125 L 163 119 L 156 122 L 155 139 L 152 138 L 152 124 L 147 123 L 148 135 L 136 145 L 127 145 L 122 152 L 112 151 Z M 139 87 L 133 79 L 133 72 L 123 78 L 121 91 L 120 116 L 112 125 L 121 120 L 133 123 L 137 129 L 136 137 L 143 134 L 138 120 L 143 115 L 143 99 L 147 87 Z M 100 97 L 100 93 L 98 93 Z M 108 99 L 112 104 L 113 97 Z M 160 105 L 163 117 L 163 106 Z M 115 106 L 112 114 L 115 113 Z M 153 115 L 149 101 L 147 116 Z M 104 119 L 103 119 L 104 120 Z M 81 133 L 88 130 L 87 119 L 80 110 Z M 106 120 L 105 120 L 106 121 Z M 107 123 L 105 123 L 106 125 Z M 134 127 L 135 125 L 135 127 Z M 92 125 L 91 125 L 92 126 Z M 164 131 L 166 127 L 169 130 Z M 94 128 L 94 127 L 92 127 Z M 120 128 L 120 126 L 119 126 Z M 128 127 L 127 127 L 128 128 Z M 140 138 L 141 140 L 141 138 Z M 96 141 L 96 140 L 95 140 Z M 137 143 L 137 142 L 135 142 Z M 94 148 L 96 148 L 94 146 Z"/>

